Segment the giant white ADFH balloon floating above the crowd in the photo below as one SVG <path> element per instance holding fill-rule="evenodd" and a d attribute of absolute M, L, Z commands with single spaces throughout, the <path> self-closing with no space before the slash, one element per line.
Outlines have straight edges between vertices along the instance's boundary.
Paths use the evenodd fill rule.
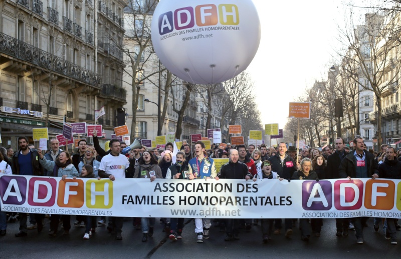
<path fill-rule="evenodd" d="M 152 43 L 177 77 L 216 84 L 249 66 L 260 31 L 252 0 L 161 0 L 153 14 Z"/>

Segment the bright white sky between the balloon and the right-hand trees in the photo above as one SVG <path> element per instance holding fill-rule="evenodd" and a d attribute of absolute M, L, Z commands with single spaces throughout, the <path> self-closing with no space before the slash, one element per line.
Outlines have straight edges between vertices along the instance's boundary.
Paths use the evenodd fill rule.
<path fill-rule="evenodd" d="M 340 0 L 253 1 L 262 39 L 247 71 L 255 81 L 262 123 L 283 128 L 289 102 L 315 80 L 327 77 L 334 49 L 340 45 L 338 27 L 344 27 L 349 8 Z"/>

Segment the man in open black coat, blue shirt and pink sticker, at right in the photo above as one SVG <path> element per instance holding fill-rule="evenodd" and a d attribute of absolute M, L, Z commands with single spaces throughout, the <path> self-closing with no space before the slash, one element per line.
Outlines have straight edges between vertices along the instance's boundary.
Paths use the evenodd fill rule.
<path fill-rule="evenodd" d="M 355 151 L 350 152 L 344 157 L 340 163 L 338 175 L 340 178 L 347 178 L 352 181 L 352 178 L 370 178 L 374 173 L 374 156 L 368 151 L 364 150 L 363 139 L 356 137 L 353 140 Z M 355 236 L 356 243 L 363 244 L 363 229 L 367 218 L 355 217 Z"/>

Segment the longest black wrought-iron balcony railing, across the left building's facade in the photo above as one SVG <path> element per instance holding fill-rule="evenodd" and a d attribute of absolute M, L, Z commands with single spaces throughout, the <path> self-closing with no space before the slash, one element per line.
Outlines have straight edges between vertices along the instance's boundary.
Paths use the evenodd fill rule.
<path fill-rule="evenodd" d="M 4 33 L 0 33 L 0 52 L 91 85 L 100 86 L 100 82 L 102 81 L 101 75 L 95 74 L 90 70 L 84 69 Z"/>

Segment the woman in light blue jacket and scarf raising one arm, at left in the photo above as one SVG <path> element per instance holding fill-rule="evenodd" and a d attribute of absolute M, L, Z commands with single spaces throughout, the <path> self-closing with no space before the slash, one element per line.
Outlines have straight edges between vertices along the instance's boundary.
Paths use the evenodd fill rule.
<path fill-rule="evenodd" d="M 43 156 L 42 150 L 38 149 L 39 154 L 39 163 L 46 170 L 53 171 L 53 177 L 62 177 L 63 181 L 68 178 L 78 177 L 78 171 L 75 166 L 72 164 L 72 159 L 69 153 L 63 151 L 56 158 L 56 161 L 47 160 L 46 157 Z M 50 236 L 56 236 L 60 217 L 63 220 L 63 228 L 64 234 L 68 234 L 71 228 L 71 215 L 58 215 L 52 214 L 50 218 Z"/>

